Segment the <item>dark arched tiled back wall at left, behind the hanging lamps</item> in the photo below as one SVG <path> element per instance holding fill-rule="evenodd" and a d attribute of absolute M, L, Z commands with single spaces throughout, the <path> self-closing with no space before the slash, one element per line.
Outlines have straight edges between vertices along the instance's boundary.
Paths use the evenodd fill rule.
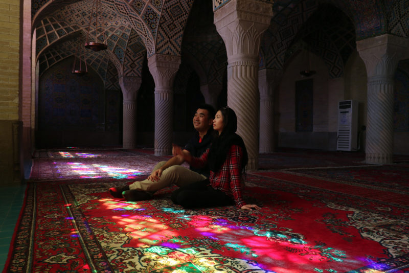
<path fill-rule="evenodd" d="M 72 58 L 55 65 L 39 83 L 40 130 L 104 130 L 104 85 L 99 76 L 71 73 Z"/>

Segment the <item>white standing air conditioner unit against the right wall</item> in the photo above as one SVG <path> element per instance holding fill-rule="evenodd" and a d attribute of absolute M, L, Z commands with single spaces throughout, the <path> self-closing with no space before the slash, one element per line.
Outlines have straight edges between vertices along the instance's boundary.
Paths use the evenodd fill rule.
<path fill-rule="evenodd" d="M 356 151 L 358 145 L 358 102 L 340 101 L 338 104 L 337 151 Z"/>

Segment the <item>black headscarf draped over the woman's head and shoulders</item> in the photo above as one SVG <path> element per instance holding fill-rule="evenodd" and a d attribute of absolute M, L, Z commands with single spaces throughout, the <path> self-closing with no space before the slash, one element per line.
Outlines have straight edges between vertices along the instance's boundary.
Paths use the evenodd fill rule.
<path fill-rule="evenodd" d="M 212 146 L 210 146 L 208 156 L 210 170 L 217 172 L 226 160 L 230 147 L 232 145 L 238 145 L 241 147 L 243 152 L 241 158 L 241 171 L 244 172 L 247 165 L 248 156 L 243 139 L 240 137 L 240 135 L 235 133 L 237 130 L 236 113 L 229 107 L 223 107 L 220 109 L 220 111 L 223 117 L 224 128 L 221 134 L 217 135 L 216 138 L 213 139 Z M 217 131 L 215 131 L 215 133 L 218 134 Z"/>

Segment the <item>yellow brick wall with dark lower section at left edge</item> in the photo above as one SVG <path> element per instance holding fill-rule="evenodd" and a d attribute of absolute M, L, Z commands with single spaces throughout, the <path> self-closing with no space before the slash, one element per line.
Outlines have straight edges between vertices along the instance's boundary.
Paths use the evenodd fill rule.
<path fill-rule="evenodd" d="M 20 2 L 0 0 L 0 183 L 22 179 L 19 140 Z"/>

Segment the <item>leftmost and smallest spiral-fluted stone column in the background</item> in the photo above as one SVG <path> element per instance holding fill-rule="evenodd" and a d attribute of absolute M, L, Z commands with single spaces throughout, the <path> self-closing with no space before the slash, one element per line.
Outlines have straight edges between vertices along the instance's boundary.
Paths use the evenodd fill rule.
<path fill-rule="evenodd" d="M 124 97 L 122 147 L 133 149 L 137 144 L 137 96 L 141 87 L 142 78 L 126 77 L 119 78 L 119 85 Z"/>

